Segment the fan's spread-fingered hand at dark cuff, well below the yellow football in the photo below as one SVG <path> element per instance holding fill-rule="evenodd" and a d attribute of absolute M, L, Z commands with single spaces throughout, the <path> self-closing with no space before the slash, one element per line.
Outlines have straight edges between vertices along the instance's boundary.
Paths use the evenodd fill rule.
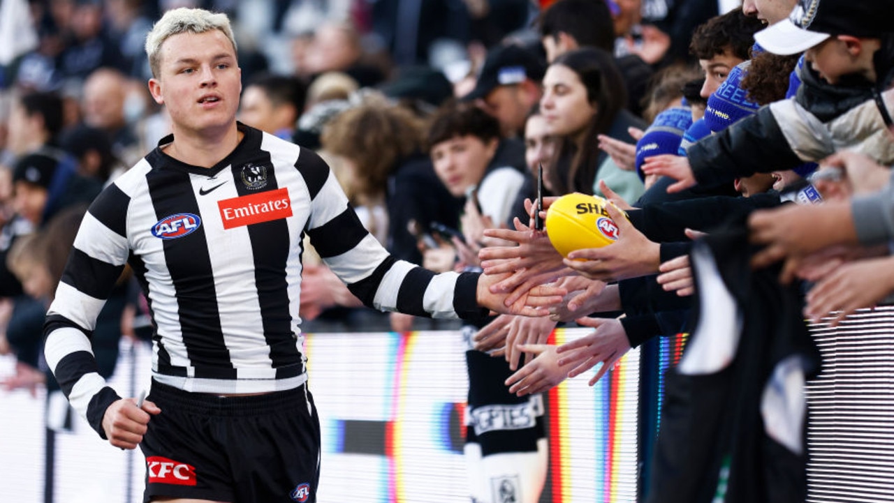
<path fill-rule="evenodd" d="M 569 377 L 576 377 L 602 364 L 590 386 L 603 378 L 603 375 L 614 368 L 621 356 L 630 350 L 627 332 L 620 321 L 613 318 L 580 318 L 578 324 L 593 327 L 596 330 L 578 339 L 562 344 L 556 351 L 561 355 L 557 365 L 564 367 L 571 363 L 575 367 L 569 371 Z"/>

